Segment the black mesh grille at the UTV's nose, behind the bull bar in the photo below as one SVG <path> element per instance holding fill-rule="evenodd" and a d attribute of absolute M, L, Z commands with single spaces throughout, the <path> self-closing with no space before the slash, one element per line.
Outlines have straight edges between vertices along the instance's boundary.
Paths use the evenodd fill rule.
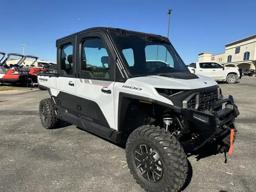
<path fill-rule="evenodd" d="M 208 93 L 201 93 L 200 94 L 200 104 L 199 104 L 199 111 L 206 110 L 210 108 L 210 105 L 218 100 L 218 91 L 208 92 Z"/>

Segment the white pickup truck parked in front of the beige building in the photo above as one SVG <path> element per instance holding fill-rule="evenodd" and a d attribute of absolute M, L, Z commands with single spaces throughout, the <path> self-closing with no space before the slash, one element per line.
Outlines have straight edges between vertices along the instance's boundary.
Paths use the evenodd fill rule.
<path fill-rule="evenodd" d="M 195 68 L 195 73 L 211 77 L 215 81 L 226 81 L 229 84 L 236 83 L 241 79 L 238 68 L 225 67 L 216 62 L 195 62 L 190 63 L 189 67 Z"/>

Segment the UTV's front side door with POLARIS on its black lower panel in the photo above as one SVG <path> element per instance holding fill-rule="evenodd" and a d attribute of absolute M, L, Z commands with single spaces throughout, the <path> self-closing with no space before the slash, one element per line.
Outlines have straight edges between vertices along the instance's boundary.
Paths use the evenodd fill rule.
<path fill-rule="evenodd" d="M 106 137 L 115 129 L 115 57 L 103 32 L 77 36 L 76 94 L 79 125 Z M 112 128 L 112 129 L 111 129 Z"/>

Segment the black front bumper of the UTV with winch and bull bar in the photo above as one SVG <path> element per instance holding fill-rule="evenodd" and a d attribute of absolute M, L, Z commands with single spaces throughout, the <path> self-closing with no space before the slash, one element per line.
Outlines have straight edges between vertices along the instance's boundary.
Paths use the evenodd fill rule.
<path fill-rule="evenodd" d="M 210 108 L 204 112 L 189 108 L 180 108 L 180 113 L 194 124 L 195 131 L 219 135 L 221 132 L 227 130 L 227 127 L 231 125 L 239 115 L 233 97 L 229 96 L 229 98 L 230 99 L 222 99 L 213 102 Z M 224 103 L 226 103 L 226 106 L 222 109 L 222 104 Z"/>

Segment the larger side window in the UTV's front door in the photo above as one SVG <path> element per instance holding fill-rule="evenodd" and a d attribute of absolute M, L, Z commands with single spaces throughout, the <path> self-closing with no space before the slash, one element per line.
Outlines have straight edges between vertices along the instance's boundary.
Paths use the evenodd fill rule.
<path fill-rule="evenodd" d="M 87 39 L 82 45 L 82 70 L 109 79 L 109 57 L 101 39 Z"/>

